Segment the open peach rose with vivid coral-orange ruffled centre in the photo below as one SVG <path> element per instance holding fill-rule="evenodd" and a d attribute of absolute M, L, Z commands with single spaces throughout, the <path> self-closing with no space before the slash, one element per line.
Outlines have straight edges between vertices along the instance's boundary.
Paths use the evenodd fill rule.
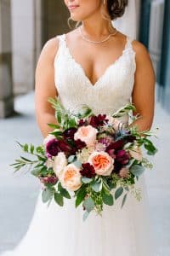
<path fill-rule="evenodd" d="M 108 176 L 111 174 L 114 166 L 114 159 L 105 151 L 94 151 L 88 157 L 88 162 L 94 166 L 94 170 L 97 174 Z"/>

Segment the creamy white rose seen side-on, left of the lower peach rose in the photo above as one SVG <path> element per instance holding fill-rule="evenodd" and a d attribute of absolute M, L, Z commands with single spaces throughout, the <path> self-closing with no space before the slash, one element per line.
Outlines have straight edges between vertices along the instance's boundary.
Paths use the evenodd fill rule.
<path fill-rule="evenodd" d="M 67 160 L 64 152 L 59 152 L 55 157 L 54 157 L 54 173 L 56 174 L 57 177 L 60 177 L 65 166 L 67 165 Z"/>

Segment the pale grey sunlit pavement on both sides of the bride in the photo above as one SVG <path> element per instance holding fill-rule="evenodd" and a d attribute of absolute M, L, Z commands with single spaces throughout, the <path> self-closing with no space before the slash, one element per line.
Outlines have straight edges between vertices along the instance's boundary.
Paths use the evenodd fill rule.
<path fill-rule="evenodd" d="M 19 96 L 15 101 L 17 115 L 0 120 L 0 253 L 13 248 L 26 233 L 34 211 L 39 183 L 28 173 L 15 173 L 9 164 L 21 154 L 15 143 L 41 143 L 42 135 L 34 114 L 34 94 Z M 156 256 L 170 255 L 170 115 L 156 104 L 153 124 L 159 127 L 155 139 L 159 152 L 155 168 L 145 172 L 150 214 L 156 240 Z M 120 255 L 121 256 L 121 255 Z"/>

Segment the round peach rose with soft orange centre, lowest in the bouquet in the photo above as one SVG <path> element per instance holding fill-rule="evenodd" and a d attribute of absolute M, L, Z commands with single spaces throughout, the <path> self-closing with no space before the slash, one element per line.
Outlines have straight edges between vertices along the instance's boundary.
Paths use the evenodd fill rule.
<path fill-rule="evenodd" d="M 65 189 L 76 191 L 82 185 L 81 177 L 80 169 L 71 163 L 65 166 L 60 182 Z"/>

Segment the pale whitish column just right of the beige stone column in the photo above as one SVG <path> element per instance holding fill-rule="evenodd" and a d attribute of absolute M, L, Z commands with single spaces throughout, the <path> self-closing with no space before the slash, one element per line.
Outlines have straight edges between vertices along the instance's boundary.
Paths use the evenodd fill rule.
<path fill-rule="evenodd" d="M 14 95 L 34 88 L 34 0 L 11 0 Z"/>

